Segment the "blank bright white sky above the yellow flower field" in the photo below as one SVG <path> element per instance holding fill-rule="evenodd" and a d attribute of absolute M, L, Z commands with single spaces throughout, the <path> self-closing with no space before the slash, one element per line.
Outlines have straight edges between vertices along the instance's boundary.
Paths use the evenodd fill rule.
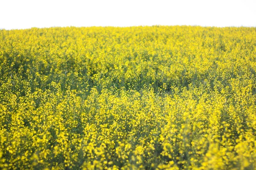
<path fill-rule="evenodd" d="M 253 26 L 256 0 L 0 0 L 0 28 Z"/>

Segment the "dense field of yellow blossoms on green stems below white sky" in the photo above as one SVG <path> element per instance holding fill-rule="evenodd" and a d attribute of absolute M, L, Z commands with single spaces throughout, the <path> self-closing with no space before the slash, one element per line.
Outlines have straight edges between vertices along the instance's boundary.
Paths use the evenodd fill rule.
<path fill-rule="evenodd" d="M 256 169 L 256 28 L 0 30 L 0 169 Z"/>

